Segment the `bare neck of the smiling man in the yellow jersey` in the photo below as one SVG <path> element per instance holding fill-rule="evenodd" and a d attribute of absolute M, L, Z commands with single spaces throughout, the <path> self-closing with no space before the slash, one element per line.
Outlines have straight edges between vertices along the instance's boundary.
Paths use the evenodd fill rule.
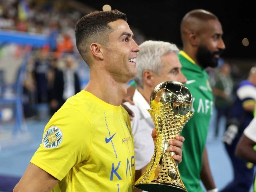
<path fill-rule="evenodd" d="M 89 83 L 84 90 L 115 106 L 121 104 L 127 92 L 125 83 L 116 82 L 110 74 L 94 69 L 90 71 Z"/>

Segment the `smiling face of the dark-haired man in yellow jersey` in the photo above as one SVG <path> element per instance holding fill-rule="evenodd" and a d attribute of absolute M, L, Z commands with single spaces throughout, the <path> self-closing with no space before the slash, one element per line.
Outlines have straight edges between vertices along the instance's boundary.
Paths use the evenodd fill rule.
<path fill-rule="evenodd" d="M 117 82 L 127 83 L 137 74 L 136 57 L 140 47 L 126 21 L 119 19 L 108 24 L 112 28 L 108 45 L 104 47 L 105 69 Z"/>

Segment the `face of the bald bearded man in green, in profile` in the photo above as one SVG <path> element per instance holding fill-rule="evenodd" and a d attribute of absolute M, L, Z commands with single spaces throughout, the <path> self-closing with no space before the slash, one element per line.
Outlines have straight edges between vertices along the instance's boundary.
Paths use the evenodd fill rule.
<path fill-rule="evenodd" d="M 222 27 L 217 19 L 208 20 L 206 26 L 200 31 L 200 44 L 196 58 L 202 68 L 218 66 L 219 57 L 225 49 L 222 35 Z"/>

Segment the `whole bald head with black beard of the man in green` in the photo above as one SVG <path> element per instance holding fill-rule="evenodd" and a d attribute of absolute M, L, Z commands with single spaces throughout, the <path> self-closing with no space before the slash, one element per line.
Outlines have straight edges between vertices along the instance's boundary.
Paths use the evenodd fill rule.
<path fill-rule="evenodd" d="M 183 51 L 202 68 L 216 67 L 225 49 L 222 26 L 212 13 L 196 9 L 182 19 L 181 37 Z"/>

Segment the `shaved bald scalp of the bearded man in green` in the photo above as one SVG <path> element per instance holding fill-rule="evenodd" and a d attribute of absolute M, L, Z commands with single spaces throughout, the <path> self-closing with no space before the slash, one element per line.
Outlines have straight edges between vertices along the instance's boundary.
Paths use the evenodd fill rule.
<path fill-rule="evenodd" d="M 182 36 L 183 44 L 187 41 L 189 33 L 200 34 L 207 28 L 209 20 L 218 20 L 218 18 L 203 9 L 195 9 L 188 12 L 182 19 L 180 25 L 180 31 Z"/>

